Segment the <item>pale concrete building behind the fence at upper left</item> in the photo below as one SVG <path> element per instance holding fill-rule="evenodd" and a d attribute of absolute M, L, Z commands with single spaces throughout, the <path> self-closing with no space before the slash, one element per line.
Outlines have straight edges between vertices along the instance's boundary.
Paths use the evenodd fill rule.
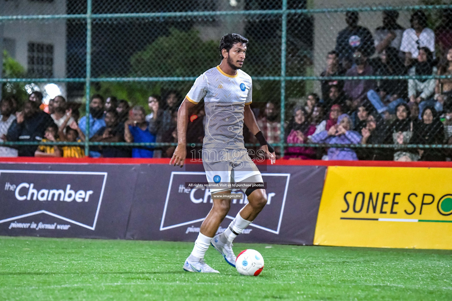
<path fill-rule="evenodd" d="M 66 14 L 66 0 L 2 2 L 2 15 Z M 8 21 L 3 39 L 3 48 L 24 66 L 28 77 L 66 77 L 66 19 Z M 65 95 L 65 85 L 57 84 Z"/>

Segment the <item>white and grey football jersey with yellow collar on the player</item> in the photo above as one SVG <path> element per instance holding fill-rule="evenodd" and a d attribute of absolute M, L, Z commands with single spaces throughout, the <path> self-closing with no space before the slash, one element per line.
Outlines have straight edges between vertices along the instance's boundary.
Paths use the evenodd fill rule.
<path fill-rule="evenodd" d="M 190 102 L 204 97 L 206 112 L 203 148 L 244 149 L 243 112 L 252 102 L 250 75 L 237 70 L 234 76 L 224 73 L 220 66 L 201 74 L 187 94 Z"/>

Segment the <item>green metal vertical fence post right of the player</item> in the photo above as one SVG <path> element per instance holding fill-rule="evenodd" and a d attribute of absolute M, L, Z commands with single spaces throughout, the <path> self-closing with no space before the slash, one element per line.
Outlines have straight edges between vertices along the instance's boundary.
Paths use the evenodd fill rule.
<path fill-rule="evenodd" d="M 287 38 L 287 0 L 282 0 L 281 20 L 281 133 L 279 134 L 279 148 L 281 157 L 284 157 L 284 114 L 286 99 L 286 38 Z"/>

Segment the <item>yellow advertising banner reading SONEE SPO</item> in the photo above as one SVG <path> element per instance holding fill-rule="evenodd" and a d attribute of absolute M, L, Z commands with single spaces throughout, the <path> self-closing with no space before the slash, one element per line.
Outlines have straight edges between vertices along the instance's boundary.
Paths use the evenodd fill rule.
<path fill-rule="evenodd" d="M 452 168 L 328 167 L 314 244 L 452 249 Z"/>

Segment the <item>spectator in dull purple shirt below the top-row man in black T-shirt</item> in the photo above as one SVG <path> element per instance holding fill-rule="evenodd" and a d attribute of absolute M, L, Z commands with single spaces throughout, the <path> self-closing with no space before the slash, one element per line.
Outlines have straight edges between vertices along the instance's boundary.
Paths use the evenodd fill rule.
<path fill-rule="evenodd" d="M 361 50 L 355 51 L 353 58 L 355 65 L 347 70 L 346 76 L 373 75 L 373 69 L 367 64 L 367 57 Z M 373 79 L 351 79 L 345 81 L 344 92 L 351 101 L 348 104 L 351 111 L 366 99 L 367 91 L 371 89 L 375 89 L 375 81 Z"/>

